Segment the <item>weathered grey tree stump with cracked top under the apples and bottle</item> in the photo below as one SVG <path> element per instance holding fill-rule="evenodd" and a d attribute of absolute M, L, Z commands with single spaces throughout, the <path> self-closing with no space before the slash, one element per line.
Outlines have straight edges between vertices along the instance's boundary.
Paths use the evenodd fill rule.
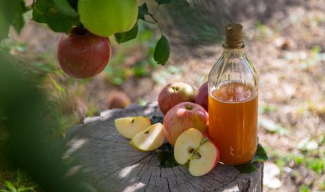
<path fill-rule="evenodd" d="M 97 191 L 262 191 L 262 163 L 250 174 L 217 164 L 201 177 L 191 176 L 184 166 L 159 167 L 155 152 L 135 150 L 115 129 L 116 118 L 136 115 L 162 114 L 157 103 L 131 105 L 88 117 L 68 131 L 65 156 L 79 162 L 74 169 L 81 170 Z"/>

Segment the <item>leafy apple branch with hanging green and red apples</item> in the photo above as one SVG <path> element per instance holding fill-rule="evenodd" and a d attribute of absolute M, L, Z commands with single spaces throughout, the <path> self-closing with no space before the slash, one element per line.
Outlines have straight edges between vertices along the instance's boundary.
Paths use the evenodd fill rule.
<path fill-rule="evenodd" d="M 149 12 L 146 3 L 137 5 L 137 0 L 34 0 L 25 6 L 24 0 L 12 0 L 1 6 L 1 12 L 14 10 L 1 22 L 0 40 L 8 37 L 10 26 L 17 32 L 23 28 L 23 12 L 32 10 L 32 20 L 46 23 L 61 35 L 57 48 L 59 65 L 71 77 L 86 79 L 94 77 L 107 66 L 111 56 L 109 37 L 115 36 L 121 44 L 135 39 L 138 19 L 157 24 L 161 38 L 155 47 L 154 59 L 164 65 L 170 48 L 162 34 L 155 14 L 161 4 L 171 0 L 155 0 L 155 12 Z M 5 10 L 6 9 L 6 10 Z"/>

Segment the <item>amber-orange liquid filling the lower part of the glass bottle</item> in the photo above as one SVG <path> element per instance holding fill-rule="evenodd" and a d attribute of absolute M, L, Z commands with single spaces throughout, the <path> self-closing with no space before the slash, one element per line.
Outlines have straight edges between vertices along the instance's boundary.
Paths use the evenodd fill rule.
<path fill-rule="evenodd" d="M 220 162 L 244 164 L 257 149 L 257 90 L 226 81 L 209 94 L 209 135 L 220 151 Z"/>

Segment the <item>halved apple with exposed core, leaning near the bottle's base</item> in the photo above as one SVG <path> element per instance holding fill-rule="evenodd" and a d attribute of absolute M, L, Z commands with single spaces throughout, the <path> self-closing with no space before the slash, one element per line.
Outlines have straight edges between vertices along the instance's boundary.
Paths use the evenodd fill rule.
<path fill-rule="evenodd" d="M 189 128 L 179 135 L 174 148 L 175 160 L 188 167 L 193 176 L 212 171 L 219 161 L 219 149 L 207 135 L 196 128 Z"/>

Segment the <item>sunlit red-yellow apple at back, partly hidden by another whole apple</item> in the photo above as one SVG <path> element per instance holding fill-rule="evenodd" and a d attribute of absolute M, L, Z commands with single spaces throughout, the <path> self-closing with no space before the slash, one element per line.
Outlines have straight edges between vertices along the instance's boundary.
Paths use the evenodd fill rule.
<path fill-rule="evenodd" d="M 195 102 L 196 90 L 190 84 L 173 82 L 166 85 L 159 93 L 160 111 L 166 114 L 170 108 L 181 102 Z"/>

